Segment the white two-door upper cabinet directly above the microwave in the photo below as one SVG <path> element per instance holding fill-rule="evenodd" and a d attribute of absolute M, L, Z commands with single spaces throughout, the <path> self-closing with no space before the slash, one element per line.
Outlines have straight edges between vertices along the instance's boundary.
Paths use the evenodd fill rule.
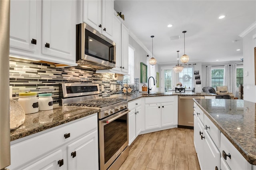
<path fill-rule="evenodd" d="M 113 0 L 84 0 L 83 22 L 112 39 Z"/>

